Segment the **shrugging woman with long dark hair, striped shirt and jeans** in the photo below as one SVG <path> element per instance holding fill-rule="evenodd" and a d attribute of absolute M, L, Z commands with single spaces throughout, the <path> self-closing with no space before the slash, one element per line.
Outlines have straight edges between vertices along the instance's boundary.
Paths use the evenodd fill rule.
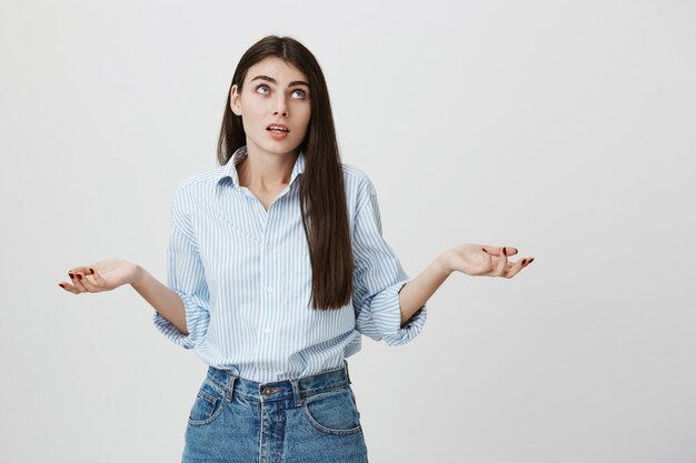
<path fill-rule="evenodd" d="M 289 37 L 242 56 L 218 160 L 173 194 L 168 285 L 121 260 L 76 266 L 60 285 L 131 284 L 155 326 L 209 365 L 182 461 L 367 462 L 346 362 L 361 335 L 405 344 L 453 271 L 511 278 L 533 259 L 460 244 L 409 280 L 372 183 L 340 161 L 321 69 Z"/>

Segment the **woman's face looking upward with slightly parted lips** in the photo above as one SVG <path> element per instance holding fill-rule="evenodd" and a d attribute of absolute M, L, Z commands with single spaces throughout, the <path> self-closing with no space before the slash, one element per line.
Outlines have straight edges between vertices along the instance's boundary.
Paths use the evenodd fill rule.
<path fill-rule="evenodd" d="M 241 93 L 232 85 L 230 108 L 247 133 L 247 149 L 269 154 L 294 152 L 305 139 L 311 107 L 307 77 L 280 58 L 269 57 L 247 71 Z M 271 131 L 282 124 L 287 132 Z"/>

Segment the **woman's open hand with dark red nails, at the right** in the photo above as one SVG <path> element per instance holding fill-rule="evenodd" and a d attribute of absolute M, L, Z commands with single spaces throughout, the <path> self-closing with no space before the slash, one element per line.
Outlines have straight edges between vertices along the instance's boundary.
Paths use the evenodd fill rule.
<path fill-rule="evenodd" d="M 516 262 L 508 261 L 517 254 L 511 246 L 491 246 L 488 244 L 459 244 L 441 255 L 441 262 L 448 272 L 461 272 L 471 276 L 513 278 L 534 261 L 525 258 Z"/>

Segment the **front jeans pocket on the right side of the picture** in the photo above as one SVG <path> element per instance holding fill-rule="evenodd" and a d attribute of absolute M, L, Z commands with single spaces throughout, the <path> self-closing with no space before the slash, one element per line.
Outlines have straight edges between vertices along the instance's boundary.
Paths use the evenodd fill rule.
<path fill-rule="evenodd" d="M 310 395 L 302 403 L 307 421 L 317 430 L 337 435 L 360 432 L 360 413 L 350 385 Z"/>

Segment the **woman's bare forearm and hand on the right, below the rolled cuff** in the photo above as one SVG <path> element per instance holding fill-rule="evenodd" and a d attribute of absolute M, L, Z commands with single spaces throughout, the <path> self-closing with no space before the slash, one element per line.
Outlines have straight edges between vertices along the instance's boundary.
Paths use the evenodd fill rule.
<path fill-rule="evenodd" d="M 401 328 L 420 309 L 454 271 L 471 276 L 503 276 L 510 279 L 534 261 L 525 258 L 517 262 L 508 261 L 508 255 L 517 254 L 510 246 L 487 244 L 459 244 L 445 251 L 418 276 L 406 283 L 399 292 L 401 305 Z"/>

